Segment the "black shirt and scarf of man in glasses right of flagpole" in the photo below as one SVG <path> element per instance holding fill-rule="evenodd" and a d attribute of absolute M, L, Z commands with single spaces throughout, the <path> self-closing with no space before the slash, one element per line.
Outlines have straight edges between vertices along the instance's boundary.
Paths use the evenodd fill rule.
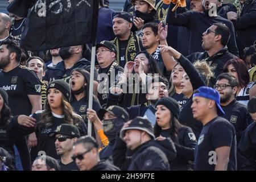
<path fill-rule="evenodd" d="M 100 92 L 98 89 L 98 100 L 103 108 L 106 107 L 108 96 L 109 96 L 109 88 L 114 85 L 114 82 L 119 79 L 119 76 L 123 73 L 123 68 L 119 65 L 115 65 L 115 63 L 110 64 L 107 68 L 98 69 L 98 74 L 100 76 Z M 108 74 L 108 77 L 101 77 L 101 73 Z M 114 75 L 111 76 L 111 75 Z M 111 80 L 112 79 L 112 80 Z M 106 108 L 105 108 L 106 109 Z"/>

